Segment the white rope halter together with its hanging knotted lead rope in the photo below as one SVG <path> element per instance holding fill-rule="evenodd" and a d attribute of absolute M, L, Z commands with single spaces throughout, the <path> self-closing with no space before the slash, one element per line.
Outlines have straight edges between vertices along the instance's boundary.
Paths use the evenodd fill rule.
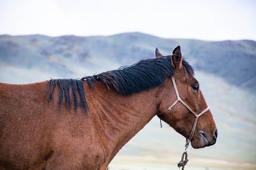
<path fill-rule="evenodd" d="M 193 115 L 196 117 L 195 119 L 195 122 L 194 122 L 194 125 L 193 125 L 193 128 L 192 128 L 192 131 L 190 133 L 190 136 L 188 139 L 186 139 L 186 144 L 185 144 L 185 151 L 183 152 L 182 154 L 182 157 L 181 157 L 181 160 L 180 162 L 178 162 L 178 168 L 180 169 L 180 167 L 182 167 L 182 170 L 184 170 L 184 167 L 185 165 L 187 164 L 188 162 L 188 153 L 187 153 L 187 150 L 188 150 L 188 146 L 189 146 L 189 143 L 194 135 L 194 132 L 195 132 L 195 129 L 196 129 L 196 123 L 197 123 L 197 120 L 198 120 L 198 117 L 201 116 L 202 114 L 204 114 L 206 111 L 208 111 L 209 107 L 207 107 L 206 109 L 204 109 L 204 111 L 202 111 L 200 114 L 196 114 L 181 98 L 180 98 L 180 95 L 179 95 L 179 92 L 178 92 L 178 89 L 177 89 L 177 86 L 176 86 L 176 83 L 175 83 L 175 80 L 174 80 L 174 77 L 172 76 L 172 83 L 173 83 L 173 86 L 174 86 L 174 89 L 175 89 L 175 92 L 176 92 L 176 95 L 177 95 L 177 100 L 164 112 L 166 113 L 167 111 L 170 111 L 172 109 L 172 107 L 174 105 L 176 105 L 178 102 L 181 102 L 185 107 L 187 107 L 189 109 L 189 111 L 191 111 L 191 113 L 193 113 Z M 164 114 L 162 113 L 162 114 Z M 162 127 L 162 122 L 161 122 L 161 119 L 160 119 L 160 127 Z M 185 159 L 184 159 L 185 157 Z"/>

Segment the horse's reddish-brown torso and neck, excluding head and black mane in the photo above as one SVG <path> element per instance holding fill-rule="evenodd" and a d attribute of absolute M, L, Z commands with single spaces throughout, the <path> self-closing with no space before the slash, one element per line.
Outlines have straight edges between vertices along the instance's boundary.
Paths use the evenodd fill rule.
<path fill-rule="evenodd" d="M 0 83 L 0 162 L 5 165 L 1 169 L 106 169 L 157 111 L 152 90 L 122 96 L 102 83 L 92 90 L 84 82 L 87 117 L 80 109 L 70 113 L 66 105 L 56 107 L 57 100 L 48 104 L 42 95 L 47 86 L 47 81 Z"/>

